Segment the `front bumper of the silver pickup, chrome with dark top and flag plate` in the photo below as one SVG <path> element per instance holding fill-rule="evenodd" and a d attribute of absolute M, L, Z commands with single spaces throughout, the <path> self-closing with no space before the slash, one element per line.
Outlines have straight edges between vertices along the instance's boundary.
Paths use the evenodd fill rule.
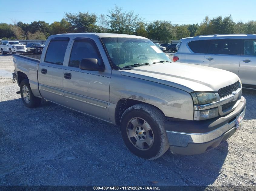
<path fill-rule="evenodd" d="M 239 116 L 244 118 L 245 107 L 246 100 L 241 97 L 240 103 L 234 111 L 217 119 L 168 121 L 165 123 L 165 127 L 171 152 L 192 155 L 201 154 L 217 147 L 236 132 L 235 121 Z"/>

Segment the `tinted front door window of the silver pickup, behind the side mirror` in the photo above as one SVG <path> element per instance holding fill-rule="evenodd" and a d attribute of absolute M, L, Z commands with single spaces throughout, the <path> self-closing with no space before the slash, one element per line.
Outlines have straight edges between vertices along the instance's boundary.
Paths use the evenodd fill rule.
<path fill-rule="evenodd" d="M 96 58 L 98 64 L 102 65 L 101 56 L 90 40 L 75 40 L 68 65 L 79 67 L 80 61 L 84 58 Z"/>

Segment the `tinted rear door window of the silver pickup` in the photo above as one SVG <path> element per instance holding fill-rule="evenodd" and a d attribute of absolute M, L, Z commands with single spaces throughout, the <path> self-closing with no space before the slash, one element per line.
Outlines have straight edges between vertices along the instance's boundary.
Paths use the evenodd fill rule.
<path fill-rule="evenodd" d="M 45 55 L 45 62 L 62 65 L 67 46 L 68 46 L 67 40 L 51 41 L 47 48 L 47 52 Z"/>

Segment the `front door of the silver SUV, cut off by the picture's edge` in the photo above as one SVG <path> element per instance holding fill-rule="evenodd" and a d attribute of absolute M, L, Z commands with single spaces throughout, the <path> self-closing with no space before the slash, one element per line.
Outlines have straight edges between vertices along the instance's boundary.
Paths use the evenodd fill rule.
<path fill-rule="evenodd" d="M 256 88 L 256 39 L 243 40 L 238 76 L 243 87 Z"/>

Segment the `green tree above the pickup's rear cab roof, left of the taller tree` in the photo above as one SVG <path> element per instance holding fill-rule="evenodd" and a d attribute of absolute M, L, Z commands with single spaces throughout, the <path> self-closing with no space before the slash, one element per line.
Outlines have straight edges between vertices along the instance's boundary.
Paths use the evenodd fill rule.
<path fill-rule="evenodd" d="M 70 33 L 70 32 L 72 32 L 71 24 L 68 21 L 66 21 L 65 19 L 62 19 L 60 22 L 55 21 L 52 24 L 50 24 L 50 27 L 49 27 L 49 33 L 51 35 Z"/>

